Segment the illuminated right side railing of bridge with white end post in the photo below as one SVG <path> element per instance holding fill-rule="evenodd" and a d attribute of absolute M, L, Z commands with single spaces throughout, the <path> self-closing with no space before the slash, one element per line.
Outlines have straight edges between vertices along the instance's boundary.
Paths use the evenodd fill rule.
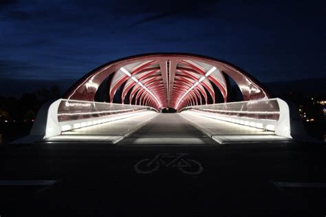
<path fill-rule="evenodd" d="M 180 112 L 187 110 L 200 116 L 270 130 L 277 135 L 291 138 L 289 107 L 278 98 L 194 105 L 184 107 Z"/>

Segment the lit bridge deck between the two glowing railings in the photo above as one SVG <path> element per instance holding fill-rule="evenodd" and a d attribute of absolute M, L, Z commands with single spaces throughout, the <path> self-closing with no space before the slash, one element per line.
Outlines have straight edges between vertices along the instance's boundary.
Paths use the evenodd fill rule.
<path fill-rule="evenodd" d="M 96 141 L 120 145 L 176 144 L 213 145 L 252 141 L 287 141 L 254 127 L 197 116 L 191 112 L 156 114 L 146 112 L 119 121 L 83 127 L 47 141 Z"/>

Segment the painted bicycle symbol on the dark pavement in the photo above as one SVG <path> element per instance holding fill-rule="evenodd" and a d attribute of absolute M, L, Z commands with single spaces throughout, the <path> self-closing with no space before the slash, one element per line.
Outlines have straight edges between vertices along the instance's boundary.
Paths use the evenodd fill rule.
<path fill-rule="evenodd" d="M 203 172 L 203 166 L 201 163 L 186 158 L 188 154 L 180 153 L 171 155 L 168 153 L 157 154 L 154 158 L 145 158 L 133 167 L 135 172 L 138 174 L 151 174 L 152 172 L 160 169 L 161 166 L 164 167 L 177 167 L 184 174 L 198 175 Z"/>

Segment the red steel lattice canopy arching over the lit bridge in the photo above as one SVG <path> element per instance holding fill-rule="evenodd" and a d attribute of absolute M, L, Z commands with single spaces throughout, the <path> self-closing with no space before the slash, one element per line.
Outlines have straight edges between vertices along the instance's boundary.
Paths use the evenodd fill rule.
<path fill-rule="evenodd" d="M 215 103 L 216 90 L 228 102 L 230 87 L 226 76 L 239 86 L 243 101 L 269 99 L 268 91 L 250 74 L 226 61 L 182 53 L 155 53 L 129 56 L 96 68 L 80 79 L 65 99 L 94 101 L 100 84 L 112 75 L 109 99 L 120 90 L 122 103 L 149 105 L 157 110 Z M 215 86 L 215 88 L 213 87 Z M 217 87 L 217 88 L 216 88 Z"/>

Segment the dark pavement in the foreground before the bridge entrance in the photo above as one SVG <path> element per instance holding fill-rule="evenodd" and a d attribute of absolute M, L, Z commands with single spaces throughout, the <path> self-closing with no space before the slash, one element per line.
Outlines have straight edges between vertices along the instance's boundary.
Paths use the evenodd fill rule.
<path fill-rule="evenodd" d="M 56 183 L 2 182 L 0 216 L 325 216 L 325 150 L 294 143 L 7 145 L 1 181 Z M 180 153 L 188 165 L 173 162 Z M 144 164 L 157 154 L 170 158 Z"/>

